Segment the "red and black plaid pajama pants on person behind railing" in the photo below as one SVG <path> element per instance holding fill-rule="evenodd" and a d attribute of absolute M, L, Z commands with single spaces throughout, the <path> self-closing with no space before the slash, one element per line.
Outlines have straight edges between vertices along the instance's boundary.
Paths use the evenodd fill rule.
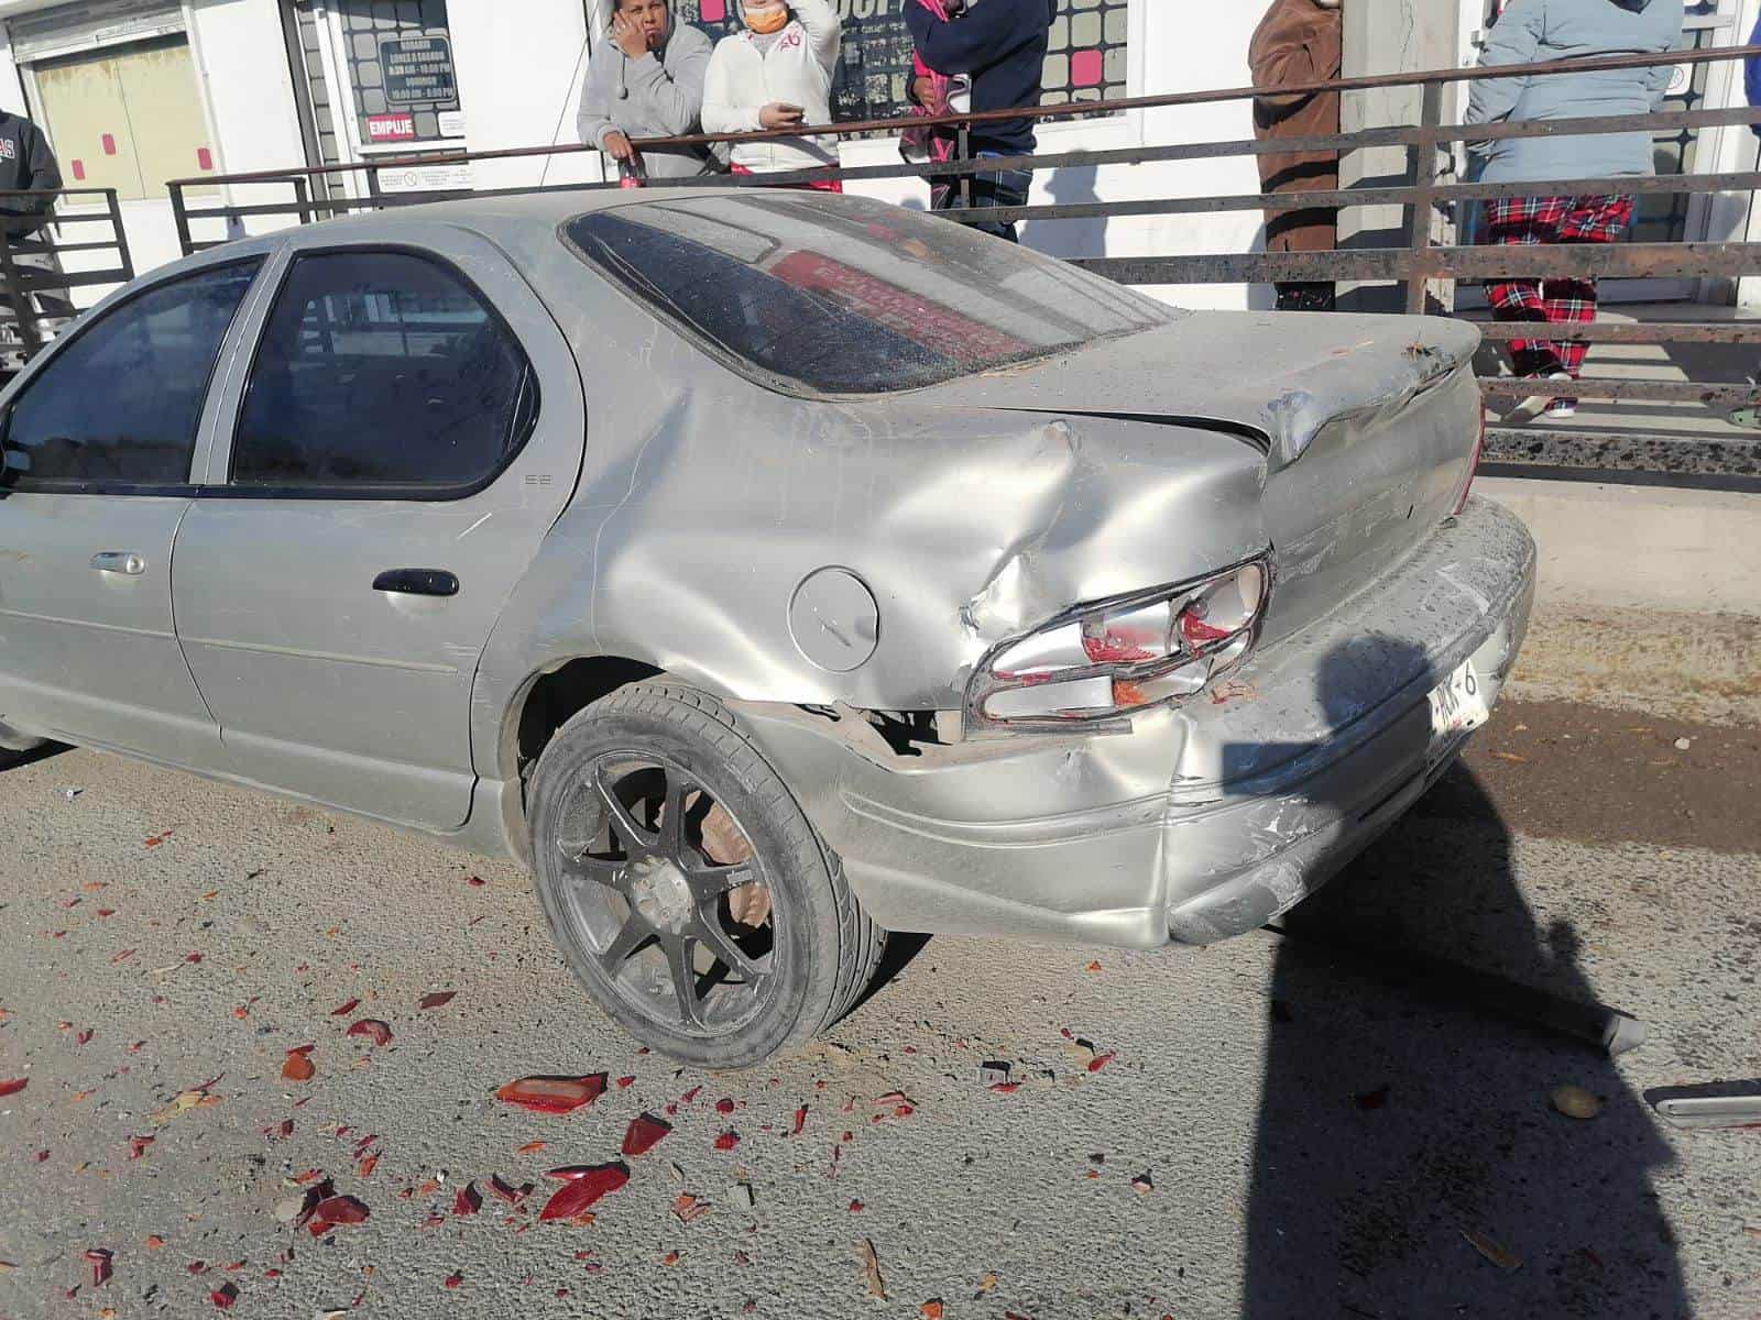
<path fill-rule="evenodd" d="M 1492 243 L 1617 243 L 1632 222 L 1631 197 L 1499 197 L 1486 202 Z M 1486 299 L 1499 320 L 1581 326 L 1595 320 L 1595 278 L 1490 280 Z M 1513 340 L 1516 375 L 1583 370 L 1587 343 Z"/>

